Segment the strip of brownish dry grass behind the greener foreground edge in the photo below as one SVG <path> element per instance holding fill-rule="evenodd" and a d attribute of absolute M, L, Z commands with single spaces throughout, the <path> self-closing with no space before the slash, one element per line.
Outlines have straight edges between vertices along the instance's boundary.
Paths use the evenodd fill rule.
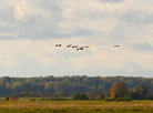
<path fill-rule="evenodd" d="M 0 102 L 0 107 L 153 107 L 152 101 L 104 102 L 104 101 L 13 101 Z"/>

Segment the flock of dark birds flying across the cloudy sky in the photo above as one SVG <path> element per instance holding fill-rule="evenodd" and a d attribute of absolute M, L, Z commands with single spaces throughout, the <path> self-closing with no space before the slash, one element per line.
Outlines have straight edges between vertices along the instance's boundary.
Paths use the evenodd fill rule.
<path fill-rule="evenodd" d="M 55 47 L 62 47 L 63 44 L 55 44 Z M 84 47 L 79 47 L 79 45 L 72 45 L 72 44 L 68 44 L 65 45 L 67 48 L 72 48 L 72 49 L 76 49 L 76 51 L 79 50 L 84 50 L 85 48 L 89 48 L 89 45 L 84 45 Z M 113 48 L 119 48 L 120 45 L 113 45 Z"/>

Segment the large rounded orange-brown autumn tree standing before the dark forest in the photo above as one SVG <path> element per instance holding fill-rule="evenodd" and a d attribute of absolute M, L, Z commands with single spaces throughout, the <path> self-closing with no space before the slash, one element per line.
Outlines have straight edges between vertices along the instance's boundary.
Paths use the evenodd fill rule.
<path fill-rule="evenodd" d="M 118 82 L 112 85 L 111 97 L 124 97 L 129 93 L 126 84 L 124 82 Z"/>

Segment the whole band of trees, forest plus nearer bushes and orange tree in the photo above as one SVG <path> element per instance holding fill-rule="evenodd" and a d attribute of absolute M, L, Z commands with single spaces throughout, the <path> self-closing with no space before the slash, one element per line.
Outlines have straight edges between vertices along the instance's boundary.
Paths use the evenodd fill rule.
<path fill-rule="evenodd" d="M 119 84 L 118 84 L 119 83 Z M 122 86 L 122 88 L 120 88 Z M 118 89 L 116 89 L 118 88 Z M 38 76 L 0 78 L 0 94 L 78 95 L 86 99 L 152 99 L 153 79 L 133 76 Z M 85 95 L 83 95 L 85 94 Z M 88 96 L 86 96 L 88 95 Z"/>

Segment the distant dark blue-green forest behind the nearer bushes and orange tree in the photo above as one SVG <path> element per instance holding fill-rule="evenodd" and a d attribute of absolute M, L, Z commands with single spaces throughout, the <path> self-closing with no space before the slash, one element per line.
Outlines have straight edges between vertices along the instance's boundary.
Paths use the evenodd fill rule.
<path fill-rule="evenodd" d="M 145 84 L 149 92 L 153 94 L 153 79 L 133 76 L 39 76 L 39 78 L 0 78 L 0 94 L 7 96 L 29 92 L 34 94 L 54 94 L 58 91 L 71 95 L 78 92 L 88 93 L 102 91 L 110 94 L 112 85 L 116 82 L 124 82 L 129 91 L 133 91 L 140 84 Z"/>

